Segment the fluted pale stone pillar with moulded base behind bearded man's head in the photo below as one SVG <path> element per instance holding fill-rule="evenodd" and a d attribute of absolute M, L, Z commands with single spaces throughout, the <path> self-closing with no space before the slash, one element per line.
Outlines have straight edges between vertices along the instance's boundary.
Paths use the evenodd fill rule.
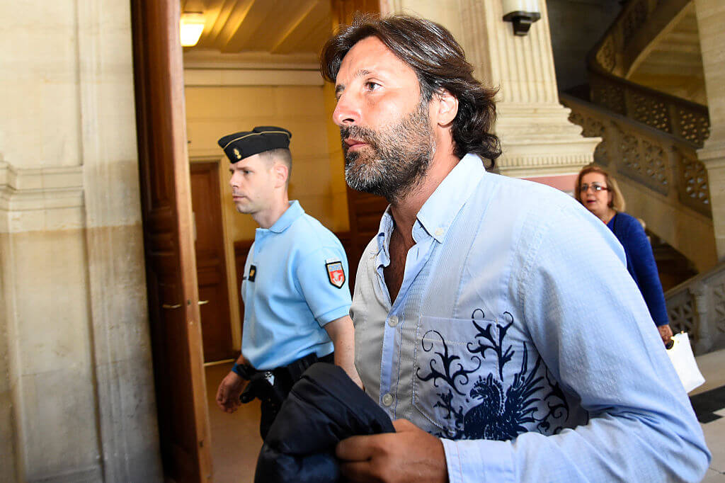
<path fill-rule="evenodd" d="M 515 36 L 502 20 L 501 0 L 382 0 L 386 13 L 421 15 L 451 30 L 476 78 L 500 88 L 495 131 L 503 155 L 501 173 L 566 187 L 593 160 L 600 138 L 584 138 L 559 103 L 546 3 L 527 36 Z M 571 189 L 570 188 L 570 189 Z"/>

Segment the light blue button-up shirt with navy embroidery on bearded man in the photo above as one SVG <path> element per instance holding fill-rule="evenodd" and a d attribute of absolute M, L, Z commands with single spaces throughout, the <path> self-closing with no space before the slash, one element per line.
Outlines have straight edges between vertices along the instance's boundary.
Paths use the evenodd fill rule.
<path fill-rule="evenodd" d="M 357 271 L 355 364 L 442 439 L 450 482 L 700 481 L 703 433 L 604 223 L 468 154 L 418 213 L 394 301 L 392 228 L 388 210 Z"/>

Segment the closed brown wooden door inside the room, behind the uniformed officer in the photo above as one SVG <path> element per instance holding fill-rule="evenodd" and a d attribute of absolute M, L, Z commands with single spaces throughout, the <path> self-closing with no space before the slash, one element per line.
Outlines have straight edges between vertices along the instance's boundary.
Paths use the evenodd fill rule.
<path fill-rule="evenodd" d="M 231 359 L 229 292 L 219 189 L 219 163 L 191 163 L 194 247 L 202 313 L 204 362 Z"/>

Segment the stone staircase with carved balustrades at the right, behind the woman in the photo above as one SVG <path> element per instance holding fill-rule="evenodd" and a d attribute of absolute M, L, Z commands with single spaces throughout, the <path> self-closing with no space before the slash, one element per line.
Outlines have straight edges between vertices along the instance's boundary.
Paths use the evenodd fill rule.
<path fill-rule="evenodd" d="M 666 292 L 674 331 L 699 353 L 725 347 L 725 264 L 717 264 L 708 176 L 710 130 L 692 0 L 630 0 L 587 59 L 589 99 L 560 94 L 627 212 L 685 255 L 699 276 Z"/>

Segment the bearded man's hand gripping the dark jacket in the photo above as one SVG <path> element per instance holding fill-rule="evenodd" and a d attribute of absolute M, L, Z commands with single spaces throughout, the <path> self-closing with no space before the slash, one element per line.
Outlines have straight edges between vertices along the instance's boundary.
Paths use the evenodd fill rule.
<path fill-rule="evenodd" d="M 396 433 L 353 436 L 337 444 L 340 471 L 351 482 L 447 482 L 440 439 L 405 419 Z"/>

